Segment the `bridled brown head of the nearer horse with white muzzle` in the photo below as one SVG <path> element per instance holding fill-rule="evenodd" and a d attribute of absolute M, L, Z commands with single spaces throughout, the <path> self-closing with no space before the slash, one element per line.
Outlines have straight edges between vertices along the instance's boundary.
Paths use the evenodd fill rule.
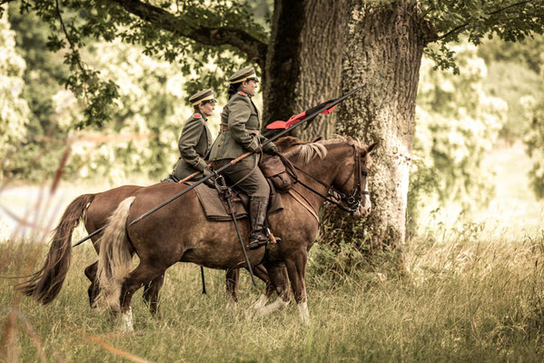
<path fill-rule="evenodd" d="M 324 143 L 333 142 L 325 141 Z M 350 138 L 339 139 L 341 146 L 338 158 L 336 177 L 332 181 L 332 188 L 337 192 L 341 203 L 353 215 L 366 217 L 372 211 L 369 192 L 368 174 L 371 166 L 371 152 L 378 142 L 371 145 L 362 145 Z M 340 156 L 342 155 L 342 156 Z"/>

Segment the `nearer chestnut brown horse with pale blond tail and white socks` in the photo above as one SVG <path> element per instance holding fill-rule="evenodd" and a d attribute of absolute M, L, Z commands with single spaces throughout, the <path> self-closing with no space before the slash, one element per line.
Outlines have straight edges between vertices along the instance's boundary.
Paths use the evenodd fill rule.
<path fill-rule="evenodd" d="M 331 189 L 341 195 L 342 201 L 347 202 L 356 215 L 370 213 L 367 168 L 375 144 L 367 147 L 346 139 L 303 143 L 294 138 L 285 138 L 279 144 L 301 170 L 301 183 L 292 194 L 282 195 L 284 210 L 270 216 L 272 231 L 282 242 L 268 250 L 248 251 L 252 266 L 260 263 L 265 266 L 279 294 L 270 305 L 262 306 L 260 301 L 257 315 L 285 307 L 291 299 L 288 289 L 288 281 L 291 281 L 302 321 L 308 322 L 304 273 L 307 252 L 317 237 L 319 224 L 313 216 Z M 163 275 L 174 263 L 193 262 L 221 270 L 244 266 L 232 223 L 207 221 L 194 191 L 143 221 L 128 224 L 184 188 L 186 186 L 180 184 L 163 183 L 135 191 L 114 211 L 104 231 L 97 273 L 101 296 L 109 308 L 122 313 L 126 329 L 132 329 L 134 292 Z M 240 226 L 242 235 L 247 236 L 247 220 L 242 220 Z M 140 258 L 139 265 L 132 271 L 131 249 Z"/>

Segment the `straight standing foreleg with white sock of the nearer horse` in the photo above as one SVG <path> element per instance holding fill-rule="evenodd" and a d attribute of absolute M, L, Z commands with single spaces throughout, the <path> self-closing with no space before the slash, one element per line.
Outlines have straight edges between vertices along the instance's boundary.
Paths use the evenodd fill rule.
<path fill-rule="evenodd" d="M 310 323 L 308 300 L 306 298 L 306 283 L 304 280 L 307 260 L 308 256 L 306 250 L 293 254 L 290 259 L 285 260 L 285 267 L 287 268 L 289 280 L 291 281 L 294 299 L 297 302 L 302 322 L 305 324 Z"/>

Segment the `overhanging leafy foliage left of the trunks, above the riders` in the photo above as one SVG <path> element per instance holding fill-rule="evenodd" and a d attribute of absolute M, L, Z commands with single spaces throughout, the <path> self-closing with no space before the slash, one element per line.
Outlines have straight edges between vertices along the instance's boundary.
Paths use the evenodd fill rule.
<path fill-rule="evenodd" d="M 70 74 L 61 81 L 83 97 L 86 106 L 84 118 L 77 124 L 79 128 L 100 127 L 110 121 L 114 116 L 114 101 L 120 96 L 117 85 L 89 66 L 91 62 L 82 56 L 82 49 L 90 40 L 122 39 L 127 44 L 141 44 L 143 54 L 179 64 L 183 74 L 200 74 L 203 65 L 211 60 L 223 72 L 231 73 L 247 57 L 228 42 L 213 39 L 221 28 L 241 29 L 261 42 L 268 37 L 262 25 L 255 23 L 252 9 L 246 3 L 162 1 L 130 8 L 133 5 L 126 1 L 94 0 L 63 1 L 62 5 L 58 1 L 23 0 L 20 4 L 22 14 L 38 15 L 49 25 L 47 48 L 52 52 L 64 51 L 64 64 Z M 225 87 L 222 76 L 223 73 L 201 74 L 187 88 L 191 92 L 211 86 L 221 91 Z"/>

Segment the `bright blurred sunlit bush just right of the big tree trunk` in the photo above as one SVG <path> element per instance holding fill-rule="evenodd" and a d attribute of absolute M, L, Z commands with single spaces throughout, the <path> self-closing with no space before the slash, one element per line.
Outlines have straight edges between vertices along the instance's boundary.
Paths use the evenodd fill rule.
<path fill-rule="evenodd" d="M 487 68 L 476 48 L 460 44 L 454 50 L 460 75 L 433 70 L 429 58 L 421 64 L 409 216 L 417 213 L 421 194 L 470 209 L 493 191 L 481 162 L 497 140 L 507 105 L 485 93 Z"/>

